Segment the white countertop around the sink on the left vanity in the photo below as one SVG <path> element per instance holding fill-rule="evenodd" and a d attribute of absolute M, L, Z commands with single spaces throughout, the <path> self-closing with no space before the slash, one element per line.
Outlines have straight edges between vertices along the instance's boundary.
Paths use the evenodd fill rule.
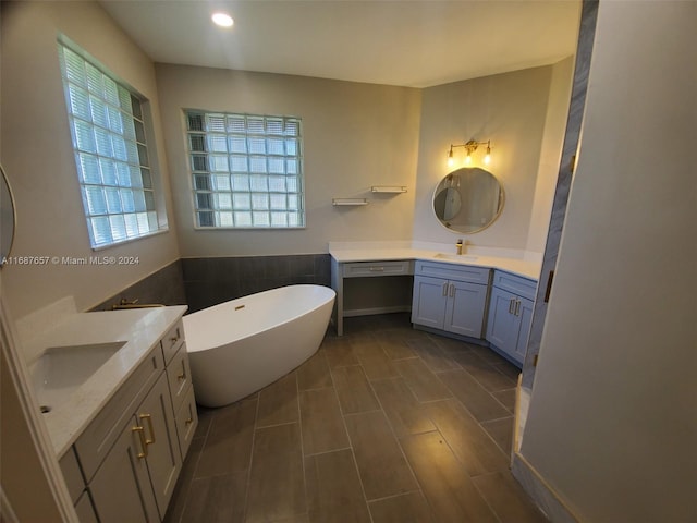
<path fill-rule="evenodd" d="M 178 305 L 74 313 L 30 340 L 27 349 L 35 354 L 50 346 L 126 342 L 64 403 L 42 414 L 59 459 L 185 312 Z"/>

